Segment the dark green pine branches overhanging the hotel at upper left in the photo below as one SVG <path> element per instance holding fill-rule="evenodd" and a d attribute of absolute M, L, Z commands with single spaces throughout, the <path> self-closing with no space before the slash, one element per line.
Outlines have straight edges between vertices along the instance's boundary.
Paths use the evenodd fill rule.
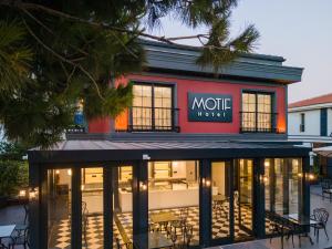
<path fill-rule="evenodd" d="M 253 25 L 230 38 L 237 0 L 0 0 L 0 123 L 11 141 L 48 147 L 72 124 L 77 102 L 87 118 L 116 116 L 132 103 L 132 85 L 122 75 L 143 70 L 139 39 L 167 43 L 180 39 L 152 35 L 160 19 L 206 27 L 201 66 L 218 71 L 259 37 Z"/>

